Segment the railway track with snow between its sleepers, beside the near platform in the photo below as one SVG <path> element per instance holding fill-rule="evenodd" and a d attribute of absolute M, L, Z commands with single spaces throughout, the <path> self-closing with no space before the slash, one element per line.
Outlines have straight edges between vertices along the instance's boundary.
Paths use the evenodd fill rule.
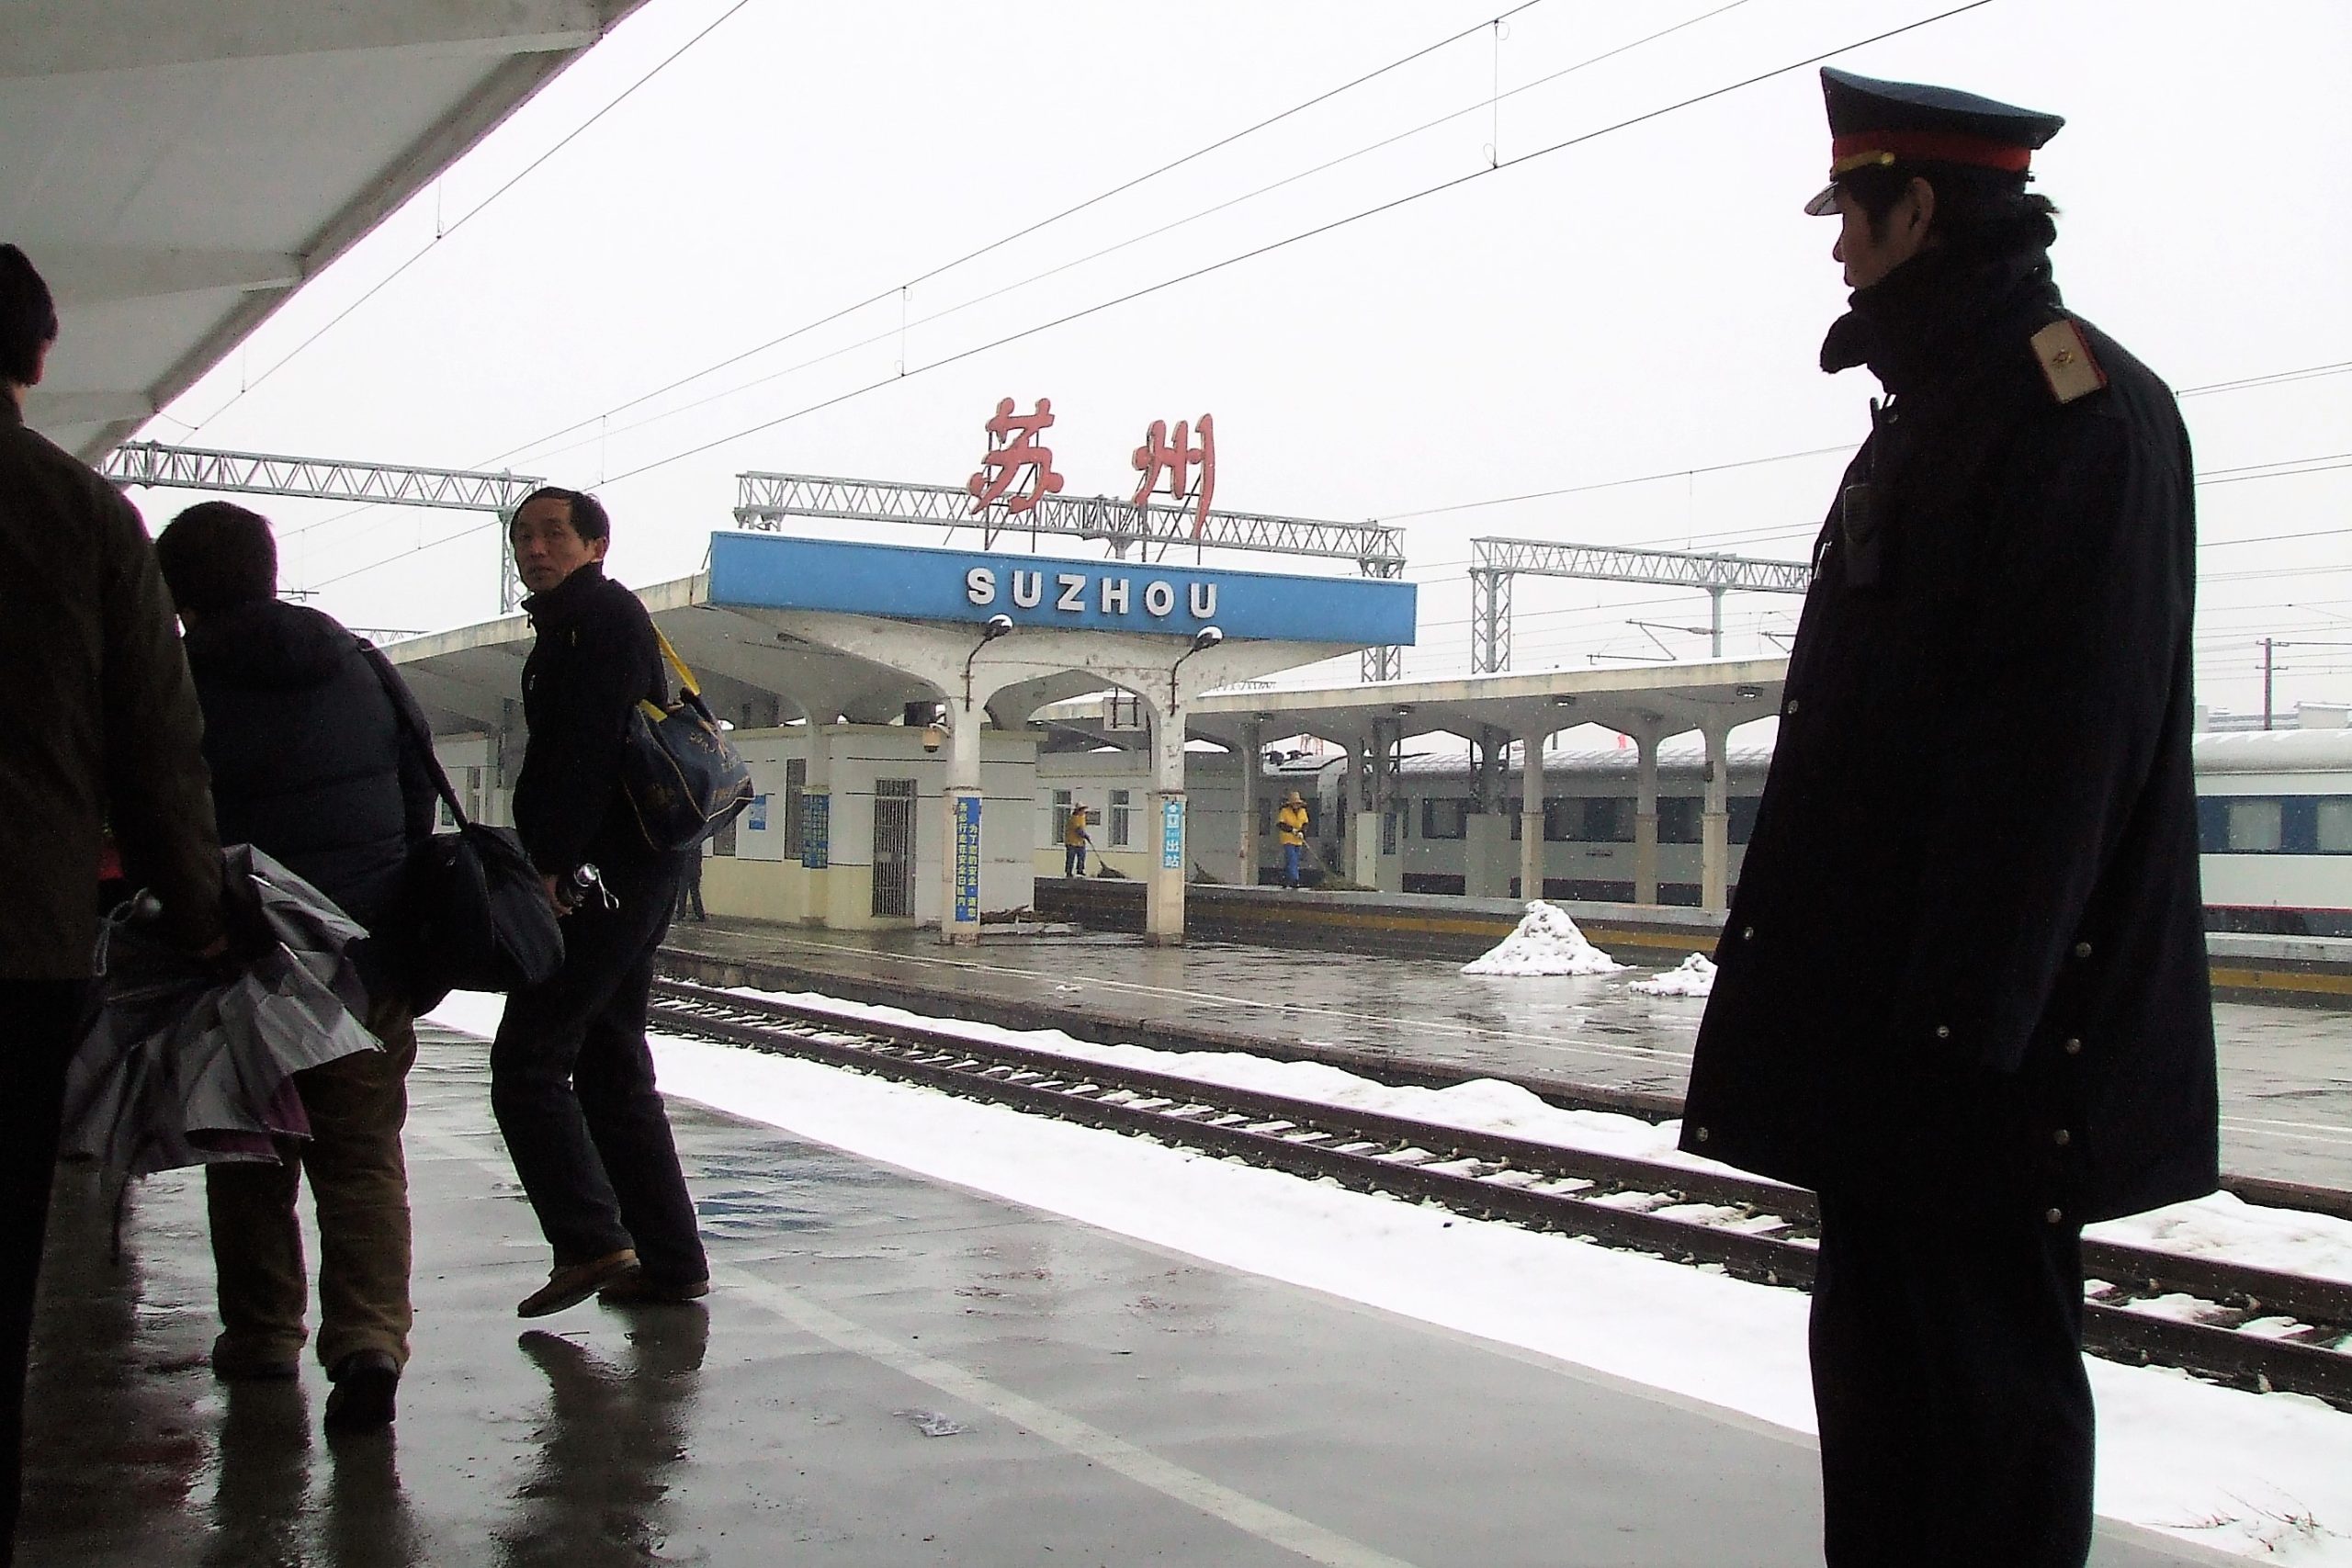
<path fill-rule="evenodd" d="M 654 983 L 654 1025 L 1762 1284 L 1813 1281 L 1813 1194 L 1778 1182 L 1082 1063 L 682 980 Z M 2093 1354 L 2352 1410 L 2352 1284 L 2089 1239 L 2084 1272 Z"/>

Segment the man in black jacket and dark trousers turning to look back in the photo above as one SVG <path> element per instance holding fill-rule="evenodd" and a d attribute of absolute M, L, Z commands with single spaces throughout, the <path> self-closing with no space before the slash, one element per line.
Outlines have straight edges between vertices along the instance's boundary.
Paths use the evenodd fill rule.
<path fill-rule="evenodd" d="M 644 1041 L 682 863 L 647 844 L 621 788 L 630 715 L 668 696 L 661 646 L 637 595 L 604 576 L 612 522 L 595 496 L 541 489 L 508 538 L 539 632 L 522 665 L 532 736 L 515 832 L 564 910 L 562 971 L 508 997 L 489 1053 L 499 1131 L 555 1248 L 548 1284 L 517 1312 L 597 1293 L 684 1302 L 710 1291 L 710 1265 Z M 609 900 L 581 893 L 588 865 Z"/>

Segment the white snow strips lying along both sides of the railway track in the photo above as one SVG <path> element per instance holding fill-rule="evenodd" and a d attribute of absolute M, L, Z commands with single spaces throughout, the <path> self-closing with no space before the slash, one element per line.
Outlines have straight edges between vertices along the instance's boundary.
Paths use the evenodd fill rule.
<path fill-rule="evenodd" d="M 894 1009 L 854 1009 L 842 1001 L 823 1006 L 844 1016 L 908 1018 Z M 496 999 L 452 997 L 435 1020 L 487 1034 L 496 1023 Z M 1028 1046 L 1056 1039 L 985 1025 L 924 1023 Z M 1127 1060 L 1110 1053 L 1138 1051 L 1138 1063 L 1152 1060 L 1162 1070 L 1195 1077 L 1207 1077 L 1197 1067 L 1209 1065 L 1202 1053 L 1082 1041 L 1068 1041 L 1068 1048 L 1070 1056 L 1103 1053 L 1101 1060 Z M 1804 1359 L 1806 1302 L 1797 1291 L 1750 1286 L 1710 1269 L 1468 1220 L 1432 1206 L 1348 1192 L 816 1063 L 668 1037 L 656 1037 L 654 1051 L 668 1093 L 851 1154 L 1225 1267 L 1519 1345 L 1797 1432 L 1813 1429 Z M 1308 1081 L 1289 1079 L 1289 1070 L 1336 1074 L 1312 1063 L 1240 1060 L 1256 1063 L 1256 1070 L 1282 1070 L 1284 1093 L 1298 1093 L 1296 1084 Z M 1484 1105 L 1496 1119 L 1515 1124 L 1498 1131 L 1519 1135 L 1531 1135 L 1529 1126 L 1562 1126 L 1555 1117 L 1576 1117 L 1576 1126 L 1595 1135 L 1618 1135 L 1606 1124 L 1625 1121 L 1630 1128 L 1623 1135 L 1635 1138 L 1632 1128 L 1639 1128 L 1649 1138 L 1646 1150 L 1630 1152 L 1653 1157 L 1675 1131 L 1670 1124 L 1651 1128 L 1630 1117 L 1557 1112 L 1501 1084 L 1463 1086 L 1477 1093 L 1376 1084 L 1336 1088 L 1425 1095 L 1402 1114 L 1432 1117 L 1430 1105 L 1444 1105 L 1461 1126 L 1470 1126 L 1468 1117 L 1482 1114 Z M 2227 1246 L 2227 1204 L 2206 1199 L 2183 1208 L 2204 1213 L 2183 1220 L 2180 1211 L 2164 1211 L 2173 1220 L 2150 1215 L 2124 1225 L 2171 1225 L 2171 1234 L 2192 1244 Z M 2267 1213 L 2237 1208 L 2244 1215 Z M 2291 1225 L 2270 1227 L 2270 1237 L 2288 1251 L 2298 1225 L 2310 1225 L 2314 1237 L 2326 1232 L 2310 1215 L 2281 1220 Z M 2319 1237 L 2314 1251 L 2343 1248 L 2347 1239 L 2352 1227 L 2340 1227 Z M 2293 1267 L 2307 1267 L 2300 1253 Z M 2091 1361 L 2091 1382 L 2098 1392 L 2100 1514 L 2274 1563 L 2352 1568 L 2352 1415 L 2317 1399 L 2244 1394 L 2169 1368 L 2098 1359 Z"/>

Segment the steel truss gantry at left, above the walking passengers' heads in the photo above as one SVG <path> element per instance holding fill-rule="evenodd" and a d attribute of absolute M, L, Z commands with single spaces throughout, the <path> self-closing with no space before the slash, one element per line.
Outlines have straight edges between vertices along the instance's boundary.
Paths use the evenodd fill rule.
<path fill-rule="evenodd" d="M 546 480 L 473 468 L 416 468 L 409 463 L 350 463 L 296 458 L 270 451 L 214 451 L 165 442 L 122 442 L 106 458 L 115 484 L 200 489 L 219 496 L 296 496 L 303 501 L 353 501 L 365 505 L 428 505 L 445 512 L 513 515 Z M 499 548 L 499 611 L 522 602 L 515 559 Z"/>

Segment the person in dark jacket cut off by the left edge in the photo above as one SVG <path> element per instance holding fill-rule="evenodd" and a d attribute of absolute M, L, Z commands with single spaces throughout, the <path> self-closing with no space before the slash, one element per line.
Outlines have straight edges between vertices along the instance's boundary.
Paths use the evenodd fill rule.
<path fill-rule="evenodd" d="M 99 938 L 99 846 L 219 954 L 221 846 L 172 599 L 129 501 L 24 423 L 49 284 L 0 244 L 0 1566 L 14 1561 L 24 1371 L 66 1058 Z"/>

